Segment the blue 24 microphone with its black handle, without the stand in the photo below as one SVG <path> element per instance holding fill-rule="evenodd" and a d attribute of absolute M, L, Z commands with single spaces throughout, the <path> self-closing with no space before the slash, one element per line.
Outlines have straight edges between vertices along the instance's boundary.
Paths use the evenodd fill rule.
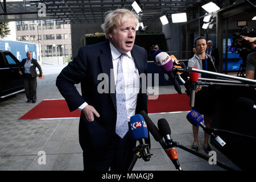
<path fill-rule="evenodd" d="M 139 147 L 142 147 L 142 159 L 146 162 L 150 160 L 149 144 L 145 139 L 148 138 L 147 124 L 141 114 L 133 115 L 130 119 L 131 133 L 135 140 L 139 140 Z"/>

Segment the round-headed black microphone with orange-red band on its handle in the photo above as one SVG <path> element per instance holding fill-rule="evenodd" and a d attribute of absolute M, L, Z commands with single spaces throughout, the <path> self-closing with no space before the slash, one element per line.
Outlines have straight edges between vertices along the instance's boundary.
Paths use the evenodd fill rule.
<path fill-rule="evenodd" d="M 174 144 L 172 143 L 172 138 L 171 138 L 171 128 L 168 122 L 166 121 L 166 119 L 162 118 L 158 120 L 158 129 L 160 131 L 160 134 L 166 140 L 166 144 L 168 146 L 168 149 L 164 151 L 166 152 L 168 157 L 171 159 L 172 163 L 174 163 L 175 168 L 178 169 L 179 171 L 182 171 L 179 160 L 177 160 L 178 159 L 177 151 L 173 147 Z"/>

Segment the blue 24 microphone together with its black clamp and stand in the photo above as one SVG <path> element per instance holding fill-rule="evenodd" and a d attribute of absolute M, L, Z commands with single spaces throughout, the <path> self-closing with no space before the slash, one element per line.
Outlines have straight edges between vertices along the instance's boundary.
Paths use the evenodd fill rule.
<path fill-rule="evenodd" d="M 145 142 L 148 138 L 147 124 L 141 114 L 133 115 L 130 119 L 131 133 L 133 134 L 133 139 L 139 141 L 139 145 L 134 149 L 135 155 L 133 162 L 131 163 L 128 171 L 133 169 L 135 162 L 138 158 L 142 158 L 145 162 L 149 161 L 151 158 L 150 154 L 150 144 Z"/>

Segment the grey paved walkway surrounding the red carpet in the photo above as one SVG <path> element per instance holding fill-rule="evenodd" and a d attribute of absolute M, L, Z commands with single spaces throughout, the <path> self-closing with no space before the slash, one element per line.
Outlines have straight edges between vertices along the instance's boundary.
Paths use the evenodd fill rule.
<path fill-rule="evenodd" d="M 56 77 L 64 65 L 42 65 L 44 79 L 38 78 L 37 102 L 46 99 L 63 98 L 55 86 Z M 80 92 L 80 85 L 76 85 Z M 184 92 L 184 88 L 183 88 Z M 81 93 L 81 92 L 80 92 Z M 161 86 L 159 94 L 176 93 L 172 86 Z M 24 93 L 16 94 L 0 101 L 0 170 L 82 170 L 82 150 L 79 145 L 79 119 L 31 119 L 19 121 L 22 115 L 36 106 L 26 103 Z M 183 146 L 191 147 L 192 126 L 187 121 L 188 111 L 178 113 L 150 114 L 157 126 L 160 118 L 166 118 L 171 126 L 171 137 Z M 199 152 L 203 150 L 204 132 L 199 130 Z M 229 159 L 217 152 L 217 160 L 236 167 Z M 176 148 L 181 168 L 184 170 L 224 170 L 187 151 Z M 46 164 L 38 154 L 46 154 Z M 151 135 L 151 154 L 149 162 L 138 159 L 134 170 L 175 170 L 174 164 Z M 237 168 L 238 169 L 238 168 Z"/>

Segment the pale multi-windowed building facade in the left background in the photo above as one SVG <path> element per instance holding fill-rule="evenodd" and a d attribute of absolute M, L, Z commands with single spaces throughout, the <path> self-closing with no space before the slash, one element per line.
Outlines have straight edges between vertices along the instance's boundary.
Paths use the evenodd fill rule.
<path fill-rule="evenodd" d="M 42 57 L 72 56 L 70 24 L 55 20 L 16 22 L 16 40 L 39 44 Z"/>

